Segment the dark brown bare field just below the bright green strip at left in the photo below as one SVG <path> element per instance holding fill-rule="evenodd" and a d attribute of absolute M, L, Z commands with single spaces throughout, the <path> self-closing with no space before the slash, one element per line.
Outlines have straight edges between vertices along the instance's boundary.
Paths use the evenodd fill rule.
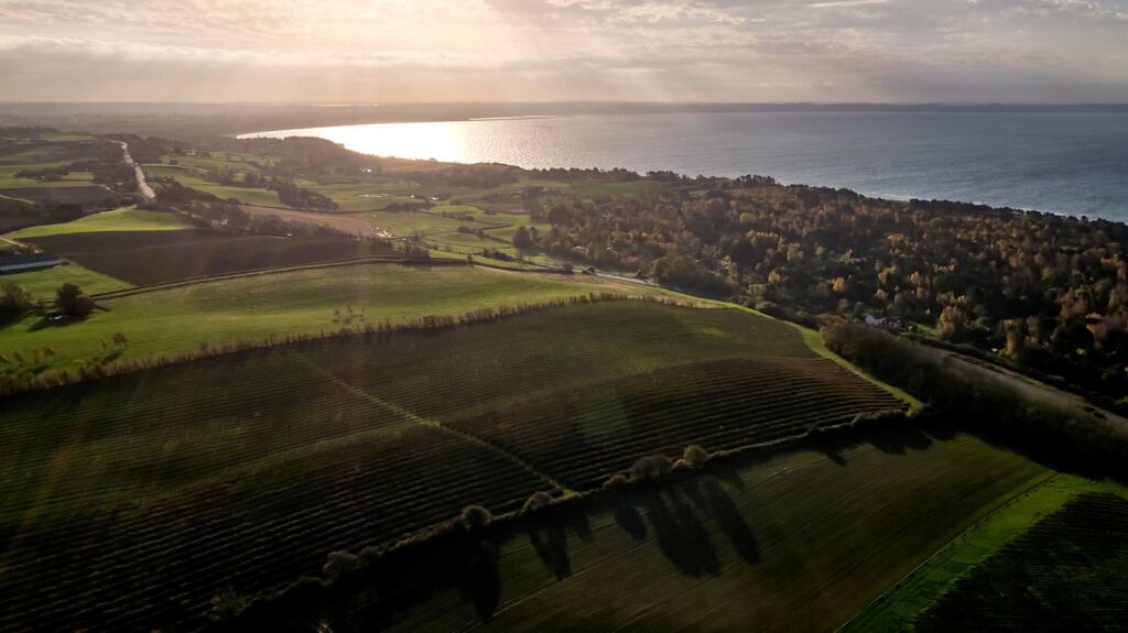
<path fill-rule="evenodd" d="M 345 238 L 226 235 L 204 230 L 114 231 L 25 238 L 36 247 L 136 285 L 360 257 L 400 257 Z M 146 262 L 139 266 L 138 262 Z"/>

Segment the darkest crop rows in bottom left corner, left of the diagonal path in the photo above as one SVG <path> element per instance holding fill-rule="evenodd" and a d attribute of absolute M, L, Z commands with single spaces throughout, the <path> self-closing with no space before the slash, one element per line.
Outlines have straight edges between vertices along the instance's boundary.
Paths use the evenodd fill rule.
<path fill-rule="evenodd" d="M 0 628 L 183 625 L 227 589 L 276 587 L 316 573 L 329 551 L 386 543 L 470 502 L 510 508 L 538 488 L 442 430 L 359 440 L 71 529 L 17 535 Z"/>

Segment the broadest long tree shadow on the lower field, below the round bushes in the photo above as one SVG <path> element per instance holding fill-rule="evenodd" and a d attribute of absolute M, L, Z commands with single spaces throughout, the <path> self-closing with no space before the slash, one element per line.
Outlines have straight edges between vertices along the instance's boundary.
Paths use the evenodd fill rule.
<path fill-rule="evenodd" d="M 662 554 L 682 573 L 721 573 L 721 561 L 705 523 L 681 487 L 653 491 L 643 499 Z"/>

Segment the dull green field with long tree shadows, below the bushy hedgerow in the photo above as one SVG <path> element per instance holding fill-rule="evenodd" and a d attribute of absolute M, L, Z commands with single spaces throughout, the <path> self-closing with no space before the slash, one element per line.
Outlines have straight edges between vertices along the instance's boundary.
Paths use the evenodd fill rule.
<path fill-rule="evenodd" d="M 797 452 L 705 475 L 501 545 L 500 631 L 832 631 L 969 525 L 1046 476 L 978 439 Z M 575 526 L 575 527 L 573 527 Z M 561 543 L 563 540 L 563 543 Z M 557 580 L 561 552 L 565 578 Z M 457 588 L 396 631 L 479 624 Z"/>

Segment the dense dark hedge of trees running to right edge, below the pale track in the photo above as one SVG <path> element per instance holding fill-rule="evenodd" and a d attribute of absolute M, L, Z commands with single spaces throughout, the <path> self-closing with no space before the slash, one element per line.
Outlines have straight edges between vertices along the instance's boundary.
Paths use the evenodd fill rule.
<path fill-rule="evenodd" d="M 1105 414 L 989 368 L 950 357 L 878 328 L 838 324 L 823 330 L 827 347 L 879 378 L 900 386 L 953 419 L 985 433 L 1087 466 L 1123 474 L 1128 427 Z"/>

